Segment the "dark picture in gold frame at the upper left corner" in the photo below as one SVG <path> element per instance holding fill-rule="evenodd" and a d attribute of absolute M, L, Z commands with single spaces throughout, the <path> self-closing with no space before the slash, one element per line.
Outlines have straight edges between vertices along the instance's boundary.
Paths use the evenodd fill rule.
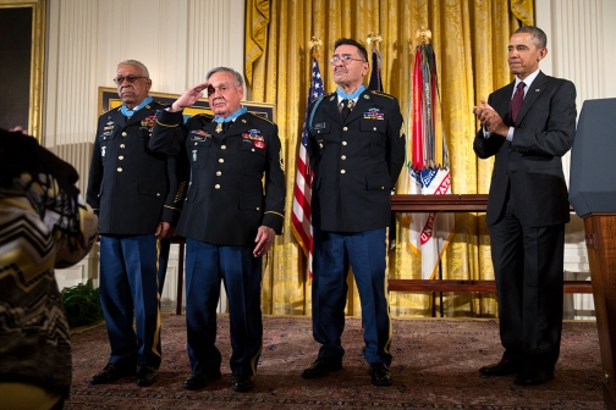
<path fill-rule="evenodd" d="M 46 0 L 0 0 L 0 127 L 41 142 Z"/>

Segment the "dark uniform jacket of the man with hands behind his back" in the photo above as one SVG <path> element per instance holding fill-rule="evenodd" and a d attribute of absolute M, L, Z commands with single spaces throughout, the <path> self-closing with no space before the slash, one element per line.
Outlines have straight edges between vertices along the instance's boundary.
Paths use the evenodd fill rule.
<path fill-rule="evenodd" d="M 389 226 L 391 190 L 405 157 L 398 101 L 366 90 L 343 121 L 334 93 L 309 112 L 313 226 L 341 233 Z"/>

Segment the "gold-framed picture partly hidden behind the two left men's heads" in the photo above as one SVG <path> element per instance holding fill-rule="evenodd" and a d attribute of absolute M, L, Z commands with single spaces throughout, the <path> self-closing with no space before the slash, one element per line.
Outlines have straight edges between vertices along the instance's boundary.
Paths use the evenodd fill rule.
<path fill-rule="evenodd" d="M 149 95 L 155 101 L 160 101 L 166 105 L 171 105 L 180 96 L 180 94 L 157 92 L 150 92 Z M 113 87 L 98 87 L 98 115 L 102 115 L 103 113 L 121 105 L 122 100 L 120 100 L 120 97 L 118 96 L 117 89 Z M 242 101 L 242 105 L 248 108 L 249 112 L 276 122 L 276 105 L 252 101 Z M 193 115 L 199 113 L 213 114 L 210 109 L 210 103 L 205 98 L 197 101 L 197 103 L 192 107 L 187 107 L 184 109 L 185 118 L 192 117 Z"/>

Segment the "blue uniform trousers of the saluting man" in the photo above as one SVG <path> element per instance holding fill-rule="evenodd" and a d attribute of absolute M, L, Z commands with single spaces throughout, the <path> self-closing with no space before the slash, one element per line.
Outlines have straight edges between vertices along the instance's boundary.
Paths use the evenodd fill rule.
<path fill-rule="evenodd" d="M 193 374 L 220 371 L 215 342 L 221 281 L 229 298 L 231 372 L 256 374 L 263 346 L 261 276 L 261 258 L 255 258 L 250 247 L 186 239 L 186 327 Z"/>

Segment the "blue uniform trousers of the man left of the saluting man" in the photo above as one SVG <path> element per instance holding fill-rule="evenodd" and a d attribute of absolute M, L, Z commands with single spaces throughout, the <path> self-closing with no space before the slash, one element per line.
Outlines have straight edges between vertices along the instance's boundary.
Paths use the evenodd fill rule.
<path fill-rule="evenodd" d="M 155 235 L 101 235 L 99 295 L 109 364 L 119 369 L 160 366 L 159 241 Z"/>

